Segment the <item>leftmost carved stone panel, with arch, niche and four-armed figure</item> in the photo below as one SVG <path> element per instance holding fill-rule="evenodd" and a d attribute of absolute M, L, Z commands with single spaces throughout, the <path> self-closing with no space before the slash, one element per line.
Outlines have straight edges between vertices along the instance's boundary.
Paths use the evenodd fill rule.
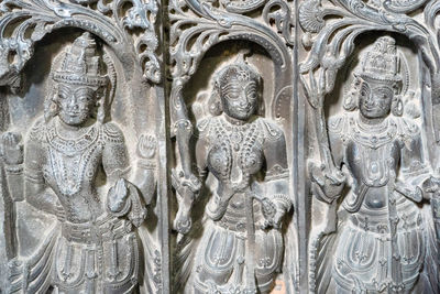
<path fill-rule="evenodd" d="M 0 6 L 1 292 L 168 292 L 158 3 Z"/>

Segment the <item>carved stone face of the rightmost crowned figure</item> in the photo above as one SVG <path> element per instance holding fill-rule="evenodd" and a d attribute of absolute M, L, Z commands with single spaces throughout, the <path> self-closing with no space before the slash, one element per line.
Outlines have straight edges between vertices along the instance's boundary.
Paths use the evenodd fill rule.
<path fill-rule="evenodd" d="M 392 85 L 364 80 L 359 96 L 359 109 L 365 118 L 385 118 L 391 112 L 393 98 Z"/>

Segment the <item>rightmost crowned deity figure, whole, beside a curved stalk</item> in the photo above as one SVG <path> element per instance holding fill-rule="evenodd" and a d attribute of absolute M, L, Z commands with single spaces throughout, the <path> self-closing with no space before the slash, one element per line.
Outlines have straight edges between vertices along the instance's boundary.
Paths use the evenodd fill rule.
<path fill-rule="evenodd" d="M 402 56 L 393 37 L 378 37 L 354 73 L 346 111 L 330 118 L 331 153 L 350 187 L 345 195 L 346 183 L 312 171 L 317 198 L 340 205 L 338 224 L 327 231 L 336 233 L 321 252 L 327 257 L 317 258 L 328 259 L 317 293 L 421 293 L 429 166 L 418 126 L 402 117 Z"/>

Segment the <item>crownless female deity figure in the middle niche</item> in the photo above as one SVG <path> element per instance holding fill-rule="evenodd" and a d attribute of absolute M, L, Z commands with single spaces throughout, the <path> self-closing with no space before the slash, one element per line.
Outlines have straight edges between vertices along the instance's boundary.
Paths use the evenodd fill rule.
<path fill-rule="evenodd" d="M 213 116 L 197 123 L 198 178 L 213 190 L 201 237 L 191 243 L 194 260 L 186 258 L 193 266 L 185 292 L 268 293 L 280 270 L 280 222 L 292 207 L 286 142 L 280 128 L 258 113 L 262 86 L 261 75 L 242 57 L 223 67 L 210 99 Z M 185 178 L 174 175 L 180 233 L 188 233 L 198 196 Z"/>

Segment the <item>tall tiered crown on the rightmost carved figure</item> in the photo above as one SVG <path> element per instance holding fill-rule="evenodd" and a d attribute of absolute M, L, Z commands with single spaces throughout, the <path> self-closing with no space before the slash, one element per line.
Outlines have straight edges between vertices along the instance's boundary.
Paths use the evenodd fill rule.
<path fill-rule="evenodd" d="M 361 61 L 361 70 L 356 75 L 378 81 L 402 81 L 400 61 L 397 56 L 396 41 L 391 36 L 381 36 L 374 42 Z"/>

